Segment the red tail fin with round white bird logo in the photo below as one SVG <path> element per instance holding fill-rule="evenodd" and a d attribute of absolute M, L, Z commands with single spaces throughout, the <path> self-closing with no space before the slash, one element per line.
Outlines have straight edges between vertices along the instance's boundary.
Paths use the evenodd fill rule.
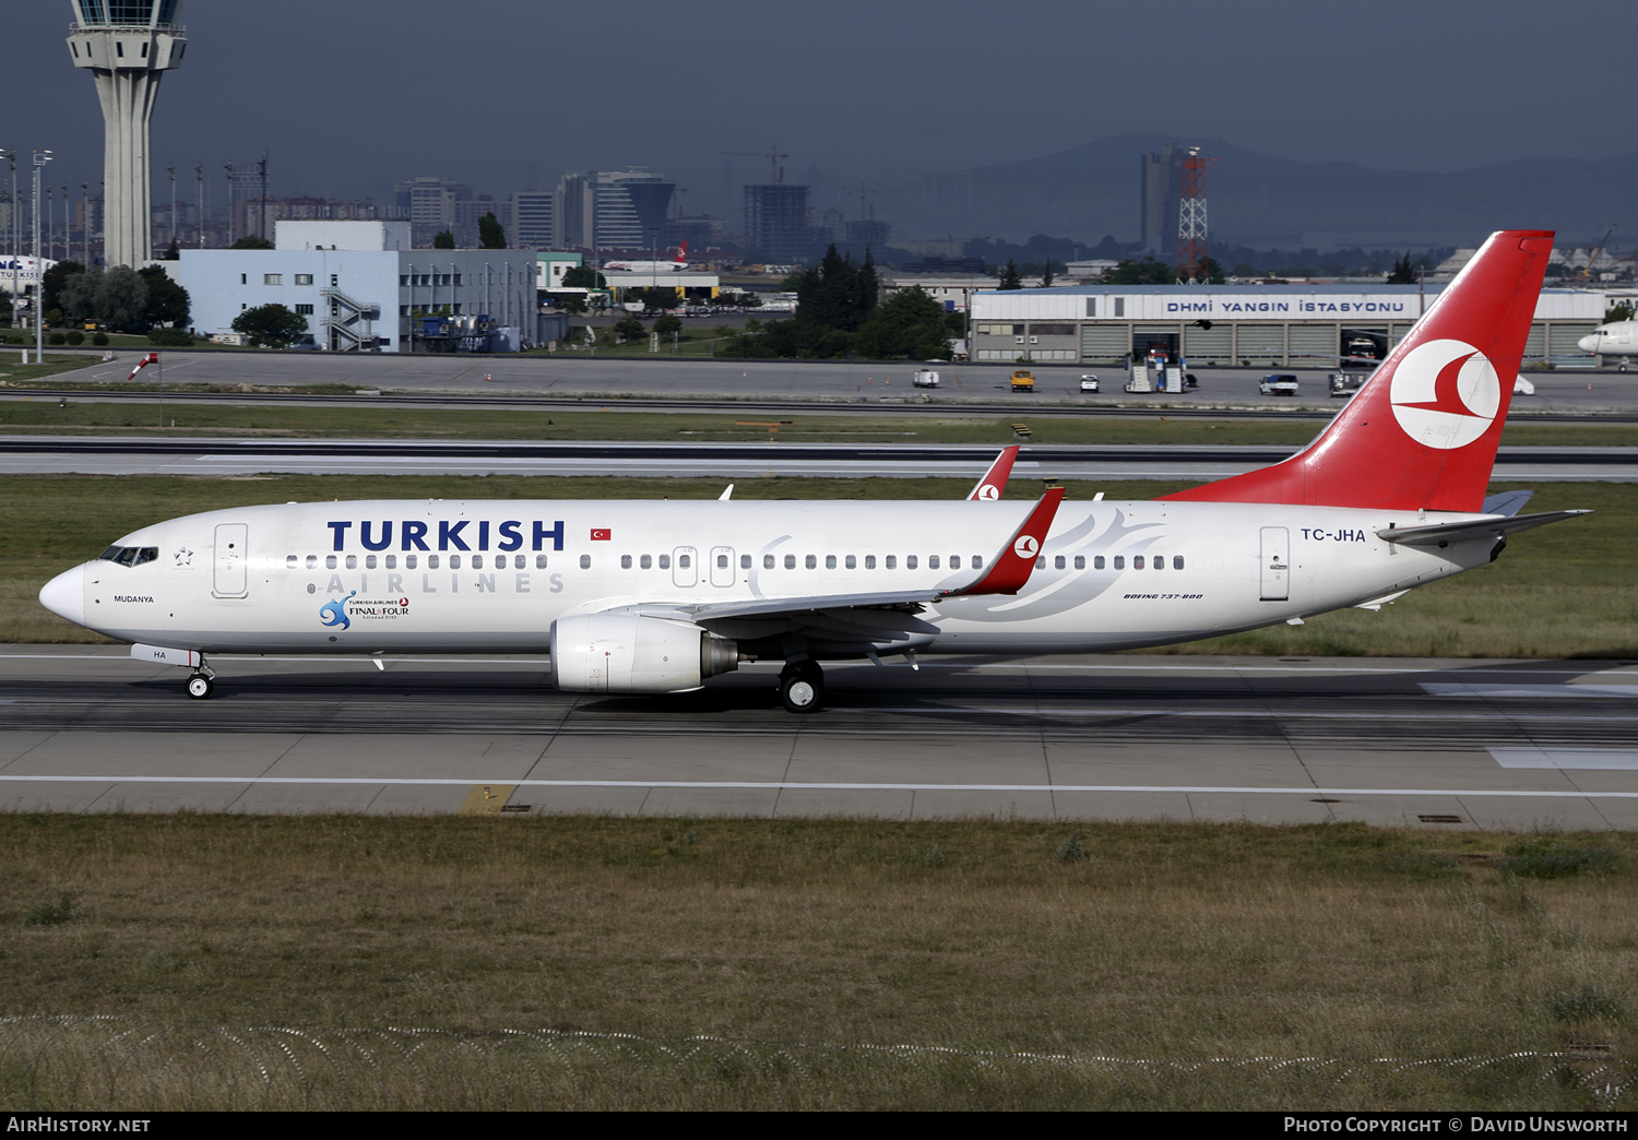
<path fill-rule="evenodd" d="M 1477 511 L 1551 251 L 1548 229 L 1491 234 L 1319 439 L 1165 498 Z"/>

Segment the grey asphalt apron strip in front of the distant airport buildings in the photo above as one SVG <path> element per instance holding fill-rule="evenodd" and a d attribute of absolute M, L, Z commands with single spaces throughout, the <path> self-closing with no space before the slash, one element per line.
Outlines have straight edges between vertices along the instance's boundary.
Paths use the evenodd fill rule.
<path fill-rule="evenodd" d="M 126 351 L 111 364 L 88 362 L 85 369 L 56 377 L 62 382 L 124 382 L 136 352 Z M 0 354 L 3 378 L 5 354 Z M 911 387 L 919 367 L 937 369 L 942 380 L 935 391 Z M 1037 378 L 1034 393 L 1012 393 L 1007 378 L 1016 367 L 1029 367 Z M 559 396 L 567 400 L 693 398 L 781 405 L 796 403 L 983 403 L 1004 409 L 1042 405 L 1076 408 L 1111 406 L 1210 406 L 1250 409 L 1330 408 L 1325 377 L 1330 369 L 1278 369 L 1299 377 L 1301 393 L 1261 396 L 1256 385 L 1269 369 L 1194 369 L 1199 387 L 1181 395 L 1125 395 L 1125 375 L 1109 367 L 1065 365 L 980 365 L 980 364 L 847 364 L 829 360 L 711 360 L 686 357 L 472 357 L 431 354 L 352 352 L 161 352 L 161 367 L 144 369 L 139 383 L 208 383 L 252 387 L 360 385 L 410 395 Z M 1079 391 L 1081 375 L 1097 375 L 1102 391 Z M 1551 413 L 1633 413 L 1638 414 L 1638 373 L 1613 370 L 1563 370 L 1530 373 L 1536 395 L 1518 396 L 1515 408 Z"/>

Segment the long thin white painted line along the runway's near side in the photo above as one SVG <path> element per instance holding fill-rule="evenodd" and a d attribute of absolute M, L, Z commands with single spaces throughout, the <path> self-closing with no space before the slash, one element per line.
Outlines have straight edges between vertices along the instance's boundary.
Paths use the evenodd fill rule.
<path fill-rule="evenodd" d="M 1094 791 L 1094 793 L 1224 793 L 1251 796 L 1500 796 L 1507 799 L 1638 799 L 1638 791 L 1520 791 L 1517 788 L 1260 788 L 1235 785 L 929 785 L 793 780 L 480 780 L 477 776 L 66 776 L 0 775 L 0 783 L 169 783 L 169 785 L 388 785 L 472 788 L 509 783 L 516 788 L 676 788 L 699 791 Z"/>

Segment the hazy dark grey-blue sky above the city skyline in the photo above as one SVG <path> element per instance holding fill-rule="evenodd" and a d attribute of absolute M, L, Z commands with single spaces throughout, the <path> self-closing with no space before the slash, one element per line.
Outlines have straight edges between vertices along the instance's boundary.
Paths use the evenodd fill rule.
<path fill-rule="evenodd" d="M 102 177 L 102 113 L 66 0 L 7 5 L 0 147 Z M 767 162 L 788 180 L 917 185 L 1127 131 L 1292 159 L 1453 170 L 1604 157 L 1631 133 L 1630 3 L 1025 2 L 826 5 L 183 0 L 185 66 L 154 115 L 164 167 L 270 152 L 274 193 L 385 198 L 439 174 L 496 197 L 537 172 L 629 164 L 688 213 Z M 732 169 L 726 164 L 732 162 Z M 179 180 L 182 175 L 179 174 Z M 855 200 L 857 201 L 857 200 Z M 883 215 L 891 215 L 883 198 Z"/>

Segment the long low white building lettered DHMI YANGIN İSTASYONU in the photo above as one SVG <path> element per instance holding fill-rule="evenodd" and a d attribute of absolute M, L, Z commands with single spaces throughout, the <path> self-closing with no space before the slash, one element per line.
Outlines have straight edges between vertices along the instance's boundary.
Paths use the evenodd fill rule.
<path fill-rule="evenodd" d="M 1075 285 L 973 295 L 973 360 L 1120 364 L 1163 351 L 1194 365 L 1322 367 L 1376 355 L 1438 296 L 1428 285 Z M 1604 293 L 1545 288 L 1525 359 L 1586 355 Z M 1371 351 L 1374 349 L 1374 351 Z"/>

